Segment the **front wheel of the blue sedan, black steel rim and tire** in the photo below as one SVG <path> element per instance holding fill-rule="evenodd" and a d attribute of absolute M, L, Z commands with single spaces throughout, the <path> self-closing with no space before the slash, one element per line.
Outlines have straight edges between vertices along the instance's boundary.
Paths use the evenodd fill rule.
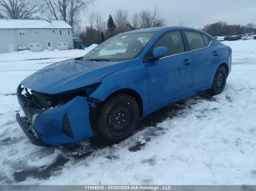
<path fill-rule="evenodd" d="M 93 130 L 108 143 L 118 143 L 128 138 L 139 121 L 139 107 L 128 94 L 116 94 L 99 108 L 94 117 Z"/>

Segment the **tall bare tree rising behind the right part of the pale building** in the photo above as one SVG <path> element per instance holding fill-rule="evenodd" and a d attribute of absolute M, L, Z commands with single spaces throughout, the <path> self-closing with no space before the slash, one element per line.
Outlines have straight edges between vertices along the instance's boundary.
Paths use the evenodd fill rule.
<path fill-rule="evenodd" d="M 63 20 L 71 27 L 78 19 L 79 11 L 86 10 L 95 0 L 44 0 L 47 10 L 56 20 Z M 77 23 L 75 23 L 77 24 Z"/>

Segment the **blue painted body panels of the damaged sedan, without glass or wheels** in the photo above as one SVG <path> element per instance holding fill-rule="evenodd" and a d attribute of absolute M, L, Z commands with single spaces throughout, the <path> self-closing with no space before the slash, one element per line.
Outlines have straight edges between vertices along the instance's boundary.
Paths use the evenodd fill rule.
<path fill-rule="evenodd" d="M 190 51 L 185 39 L 185 53 L 145 62 L 145 56 L 164 33 L 171 30 L 201 32 L 211 40 L 208 47 Z M 214 37 L 187 27 L 156 27 L 119 35 L 157 32 L 137 58 L 118 62 L 65 60 L 49 65 L 27 77 L 21 84 L 32 90 L 58 94 L 100 83 L 90 97 L 104 101 L 115 91 L 136 92 L 143 105 L 143 116 L 185 97 L 211 88 L 217 68 L 225 63 L 231 71 L 229 46 Z M 163 52 L 163 50 L 160 51 Z M 218 52 L 218 54 L 214 54 Z M 91 104 L 91 103 L 90 103 Z M 93 105 L 93 104 L 91 104 Z M 74 138 L 62 132 L 62 118 L 67 113 Z M 65 105 L 42 112 L 34 129 L 40 140 L 49 145 L 72 144 L 91 137 L 87 97 L 77 96 Z"/>

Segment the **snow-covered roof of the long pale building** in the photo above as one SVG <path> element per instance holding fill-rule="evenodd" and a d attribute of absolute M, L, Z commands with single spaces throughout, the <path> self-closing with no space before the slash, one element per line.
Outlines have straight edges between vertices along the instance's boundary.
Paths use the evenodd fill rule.
<path fill-rule="evenodd" d="M 0 29 L 28 29 L 28 28 L 72 28 L 65 21 L 59 20 L 26 20 L 26 19 L 0 19 Z"/>

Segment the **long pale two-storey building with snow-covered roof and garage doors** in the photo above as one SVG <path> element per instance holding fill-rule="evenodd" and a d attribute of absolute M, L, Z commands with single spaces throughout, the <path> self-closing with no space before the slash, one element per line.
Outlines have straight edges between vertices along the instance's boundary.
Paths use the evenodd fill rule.
<path fill-rule="evenodd" d="M 0 53 L 19 48 L 74 49 L 72 27 L 65 21 L 0 19 Z"/>

